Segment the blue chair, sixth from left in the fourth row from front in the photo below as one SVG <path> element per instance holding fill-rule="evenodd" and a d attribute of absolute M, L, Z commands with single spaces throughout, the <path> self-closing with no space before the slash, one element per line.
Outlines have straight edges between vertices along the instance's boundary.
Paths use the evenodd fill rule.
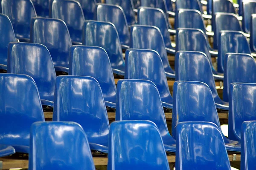
<path fill-rule="evenodd" d="M 221 31 L 218 47 L 218 72 L 224 72 L 224 58 L 228 52 L 251 54 L 250 46 L 243 32 Z"/>

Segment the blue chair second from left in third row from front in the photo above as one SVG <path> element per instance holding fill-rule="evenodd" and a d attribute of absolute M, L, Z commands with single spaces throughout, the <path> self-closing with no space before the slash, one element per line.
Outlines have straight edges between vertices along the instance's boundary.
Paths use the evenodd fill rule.
<path fill-rule="evenodd" d="M 96 78 L 105 105 L 116 108 L 116 84 L 107 52 L 95 46 L 71 46 L 69 75 Z"/>

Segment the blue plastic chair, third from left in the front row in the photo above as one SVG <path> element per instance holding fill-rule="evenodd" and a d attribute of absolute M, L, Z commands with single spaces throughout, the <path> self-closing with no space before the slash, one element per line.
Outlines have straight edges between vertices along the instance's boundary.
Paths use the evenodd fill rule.
<path fill-rule="evenodd" d="M 215 124 L 179 123 L 177 142 L 176 170 L 231 170 L 223 137 Z"/>

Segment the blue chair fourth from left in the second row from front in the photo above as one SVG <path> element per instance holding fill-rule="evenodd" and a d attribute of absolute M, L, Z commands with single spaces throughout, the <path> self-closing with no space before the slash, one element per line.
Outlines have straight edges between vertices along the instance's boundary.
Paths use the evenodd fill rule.
<path fill-rule="evenodd" d="M 178 139 L 177 125 L 184 121 L 212 122 L 221 131 L 211 89 L 207 84 L 198 81 L 175 81 L 173 86 L 172 136 Z M 207 133 L 208 134 L 208 133 Z M 240 151 L 241 141 L 222 137 L 227 150 Z"/>

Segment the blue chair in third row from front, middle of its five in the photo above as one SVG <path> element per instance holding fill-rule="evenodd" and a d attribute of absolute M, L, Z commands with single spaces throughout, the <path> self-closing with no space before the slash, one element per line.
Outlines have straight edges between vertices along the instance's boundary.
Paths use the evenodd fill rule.
<path fill-rule="evenodd" d="M 163 63 L 156 51 L 148 49 L 126 50 L 125 79 L 152 81 L 157 86 L 163 107 L 172 109 L 172 95 L 169 91 Z"/>

